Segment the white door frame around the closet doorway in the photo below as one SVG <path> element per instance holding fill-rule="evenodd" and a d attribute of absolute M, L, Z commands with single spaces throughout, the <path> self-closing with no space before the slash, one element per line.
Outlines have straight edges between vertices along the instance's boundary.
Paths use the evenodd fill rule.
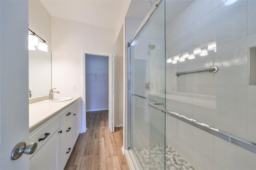
<path fill-rule="evenodd" d="M 102 52 L 97 52 L 97 51 L 83 51 L 82 52 L 82 65 L 83 65 L 83 73 L 82 73 L 82 87 L 83 87 L 83 95 L 82 95 L 82 129 L 84 130 L 83 132 L 86 132 L 87 127 L 86 127 L 86 55 L 98 55 L 98 56 L 104 56 L 104 57 L 109 57 L 112 55 L 111 53 L 102 53 Z M 108 62 L 108 67 L 109 67 L 109 62 Z M 108 87 L 109 89 L 110 87 Z M 109 90 L 108 90 L 109 91 Z M 108 94 L 109 95 L 109 94 Z M 114 101 L 113 101 L 114 102 Z M 114 109 L 114 108 L 113 108 Z M 114 115 L 113 115 L 113 125 L 114 125 Z"/>

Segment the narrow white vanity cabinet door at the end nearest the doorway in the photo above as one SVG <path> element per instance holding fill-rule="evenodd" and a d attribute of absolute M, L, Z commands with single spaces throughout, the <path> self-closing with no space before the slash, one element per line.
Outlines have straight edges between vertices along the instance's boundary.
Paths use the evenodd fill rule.
<path fill-rule="evenodd" d="M 78 138 L 79 132 L 81 130 L 81 106 L 76 109 L 73 113 L 73 143 L 76 143 L 76 139 Z"/>

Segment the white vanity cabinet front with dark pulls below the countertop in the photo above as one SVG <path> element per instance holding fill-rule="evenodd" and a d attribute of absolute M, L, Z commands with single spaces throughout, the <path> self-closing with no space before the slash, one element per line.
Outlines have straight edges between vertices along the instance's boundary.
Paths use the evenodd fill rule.
<path fill-rule="evenodd" d="M 36 152 L 30 155 L 30 170 L 63 170 L 80 130 L 81 100 L 78 99 L 30 133 L 30 143 L 38 143 Z"/>

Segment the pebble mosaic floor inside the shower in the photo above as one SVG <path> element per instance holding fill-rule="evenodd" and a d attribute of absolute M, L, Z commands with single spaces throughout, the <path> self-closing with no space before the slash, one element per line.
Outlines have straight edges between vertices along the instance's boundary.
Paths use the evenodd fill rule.
<path fill-rule="evenodd" d="M 138 159 L 144 170 L 163 170 L 164 169 L 164 144 L 136 150 Z M 184 160 L 175 150 L 166 144 L 166 170 L 195 170 L 186 160 Z"/>

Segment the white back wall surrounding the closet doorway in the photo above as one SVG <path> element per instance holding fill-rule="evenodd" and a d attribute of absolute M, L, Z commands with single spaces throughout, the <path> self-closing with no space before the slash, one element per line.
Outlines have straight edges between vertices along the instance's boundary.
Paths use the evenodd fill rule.
<path fill-rule="evenodd" d="M 114 39 L 113 29 L 52 17 L 52 87 L 60 91 L 60 96 L 84 95 L 83 51 L 114 52 L 117 54 L 118 63 L 122 61 L 122 44 L 116 44 Z M 116 69 L 116 73 L 118 72 L 122 70 Z M 115 87 L 122 87 L 122 74 L 116 79 L 119 81 Z M 72 90 L 74 85 L 76 90 Z M 116 91 L 116 95 L 122 96 L 122 91 Z M 115 105 L 119 106 L 115 113 L 120 114 L 120 116 L 115 115 L 115 124 L 122 124 L 122 100 L 116 101 Z M 85 101 L 82 109 L 83 130 L 85 130 L 84 106 Z"/>

